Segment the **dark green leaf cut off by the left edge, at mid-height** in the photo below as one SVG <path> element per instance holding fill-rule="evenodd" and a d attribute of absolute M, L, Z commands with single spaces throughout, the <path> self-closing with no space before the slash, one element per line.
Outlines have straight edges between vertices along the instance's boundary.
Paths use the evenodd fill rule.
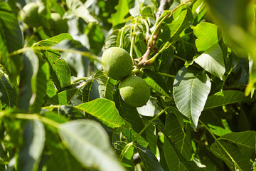
<path fill-rule="evenodd" d="M 16 90 L 6 76 L 0 77 L 0 101 L 1 108 L 13 108 L 16 105 Z"/>

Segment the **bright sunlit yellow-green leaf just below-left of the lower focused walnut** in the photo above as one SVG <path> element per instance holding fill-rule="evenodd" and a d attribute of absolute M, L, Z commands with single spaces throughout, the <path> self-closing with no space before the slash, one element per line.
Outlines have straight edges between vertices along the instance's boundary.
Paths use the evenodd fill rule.
<path fill-rule="evenodd" d="M 78 108 L 95 116 L 103 124 L 110 128 L 119 128 L 125 125 L 125 120 L 119 115 L 114 102 L 105 98 L 97 98 L 87 103 L 77 105 Z"/>

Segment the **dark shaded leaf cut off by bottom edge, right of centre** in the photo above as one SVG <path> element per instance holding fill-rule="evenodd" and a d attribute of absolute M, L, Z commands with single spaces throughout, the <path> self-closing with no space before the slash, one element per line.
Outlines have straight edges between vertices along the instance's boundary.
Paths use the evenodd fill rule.
<path fill-rule="evenodd" d="M 141 157 L 146 171 L 164 171 L 159 161 L 156 159 L 156 157 L 150 150 L 140 145 L 137 145 L 137 150 L 139 152 L 139 157 Z"/>

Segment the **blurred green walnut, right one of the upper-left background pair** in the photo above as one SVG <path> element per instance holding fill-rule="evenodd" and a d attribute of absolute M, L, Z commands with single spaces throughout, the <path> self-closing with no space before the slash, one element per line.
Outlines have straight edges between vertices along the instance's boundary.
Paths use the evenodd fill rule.
<path fill-rule="evenodd" d="M 51 13 L 50 17 L 53 21 L 53 33 L 55 35 L 60 33 L 67 33 L 68 32 L 68 24 L 66 20 L 63 20 L 60 14 L 58 13 Z"/>

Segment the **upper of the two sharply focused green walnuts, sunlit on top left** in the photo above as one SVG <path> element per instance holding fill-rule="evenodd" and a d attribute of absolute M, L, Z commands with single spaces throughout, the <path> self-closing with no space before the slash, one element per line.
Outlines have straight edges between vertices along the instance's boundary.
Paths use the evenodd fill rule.
<path fill-rule="evenodd" d="M 123 48 L 111 47 L 102 54 L 102 68 L 110 78 L 122 80 L 132 73 L 132 58 Z"/>

